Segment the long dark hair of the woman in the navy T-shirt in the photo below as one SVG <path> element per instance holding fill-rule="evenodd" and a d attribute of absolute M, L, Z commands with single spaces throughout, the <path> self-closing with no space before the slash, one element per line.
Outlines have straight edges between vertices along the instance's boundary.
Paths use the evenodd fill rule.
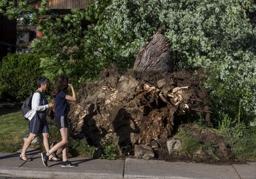
<path fill-rule="evenodd" d="M 51 93 L 52 97 L 55 97 L 59 91 L 63 91 L 65 93 L 68 92 L 68 76 L 63 74 L 59 76 L 59 78 L 55 82 L 55 86 L 53 87 L 53 91 Z"/>

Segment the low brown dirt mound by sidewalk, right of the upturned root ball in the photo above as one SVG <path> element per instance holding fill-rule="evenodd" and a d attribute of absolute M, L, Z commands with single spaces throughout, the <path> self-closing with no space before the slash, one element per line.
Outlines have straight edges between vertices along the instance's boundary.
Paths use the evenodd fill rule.
<path fill-rule="evenodd" d="M 166 146 L 158 151 L 158 159 L 163 161 L 184 161 L 197 163 L 232 164 L 242 163 L 237 161 L 230 146 L 225 142 L 223 136 L 216 131 L 199 129 L 193 125 L 183 127 L 191 137 L 196 137 L 200 144 L 205 147 L 199 148 L 193 154 L 180 154 L 179 151 L 168 154 Z"/>

